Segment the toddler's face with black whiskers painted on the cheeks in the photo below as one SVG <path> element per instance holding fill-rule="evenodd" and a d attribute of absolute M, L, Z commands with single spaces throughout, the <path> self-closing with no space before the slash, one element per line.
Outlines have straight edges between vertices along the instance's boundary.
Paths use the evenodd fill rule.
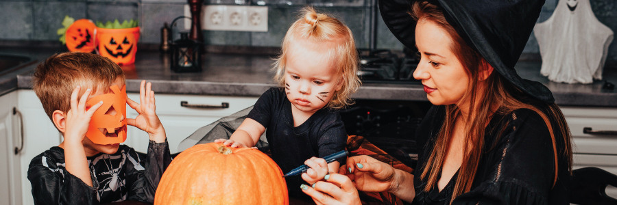
<path fill-rule="evenodd" d="M 302 42 L 300 42 L 302 43 Z M 342 81 L 335 57 L 326 57 L 328 48 L 304 42 L 302 51 L 293 51 L 285 64 L 285 94 L 296 109 L 315 112 L 328 105 Z"/>

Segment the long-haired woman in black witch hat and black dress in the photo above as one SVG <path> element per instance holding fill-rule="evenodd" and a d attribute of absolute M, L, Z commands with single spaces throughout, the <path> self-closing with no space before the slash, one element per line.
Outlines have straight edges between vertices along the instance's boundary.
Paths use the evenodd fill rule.
<path fill-rule="evenodd" d="M 357 190 L 415 204 L 568 204 L 564 116 L 544 85 L 514 70 L 543 3 L 380 0 L 389 29 L 417 46 L 413 76 L 434 105 L 415 135 L 418 167 L 412 175 L 354 156 L 304 193 L 317 204 L 360 204 Z"/>

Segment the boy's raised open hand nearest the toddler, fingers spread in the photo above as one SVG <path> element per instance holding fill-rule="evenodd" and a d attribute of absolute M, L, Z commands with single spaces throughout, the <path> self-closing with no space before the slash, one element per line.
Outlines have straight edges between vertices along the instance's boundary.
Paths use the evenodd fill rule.
<path fill-rule="evenodd" d="M 160 124 L 156 115 L 156 106 L 154 105 L 154 91 L 152 91 L 152 83 L 141 81 L 139 86 L 139 102 L 137 103 L 130 98 L 126 98 L 126 103 L 139 115 L 135 119 L 126 119 L 126 124 L 140 128 L 146 131 L 150 136 L 150 140 L 156 143 L 165 142 L 165 128 Z"/>

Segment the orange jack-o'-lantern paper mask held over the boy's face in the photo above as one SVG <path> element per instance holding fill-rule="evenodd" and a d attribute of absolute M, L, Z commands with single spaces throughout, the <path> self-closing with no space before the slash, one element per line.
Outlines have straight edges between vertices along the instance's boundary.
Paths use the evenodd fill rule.
<path fill-rule="evenodd" d="M 103 101 L 90 119 L 86 137 L 93 143 L 111 144 L 126 140 L 126 85 L 122 90 L 118 85 L 110 87 L 112 93 L 101 94 L 88 100 L 89 107 Z"/>

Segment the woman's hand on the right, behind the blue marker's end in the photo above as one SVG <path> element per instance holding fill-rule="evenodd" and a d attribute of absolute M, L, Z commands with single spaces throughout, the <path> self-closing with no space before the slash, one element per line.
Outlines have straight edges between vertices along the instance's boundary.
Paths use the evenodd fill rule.
<path fill-rule="evenodd" d="M 339 168 L 339 174 L 346 174 L 356 189 L 367 192 L 392 191 L 396 184 L 396 169 L 370 156 L 352 156 L 347 164 Z"/>

